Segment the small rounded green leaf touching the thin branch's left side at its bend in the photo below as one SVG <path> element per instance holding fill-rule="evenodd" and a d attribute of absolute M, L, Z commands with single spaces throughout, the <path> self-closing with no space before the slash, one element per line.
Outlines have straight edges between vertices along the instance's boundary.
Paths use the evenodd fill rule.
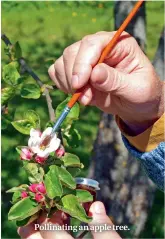
<path fill-rule="evenodd" d="M 36 84 L 25 84 L 21 88 L 21 96 L 23 98 L 38 99 L 40 95 L 40 87 Z"/>

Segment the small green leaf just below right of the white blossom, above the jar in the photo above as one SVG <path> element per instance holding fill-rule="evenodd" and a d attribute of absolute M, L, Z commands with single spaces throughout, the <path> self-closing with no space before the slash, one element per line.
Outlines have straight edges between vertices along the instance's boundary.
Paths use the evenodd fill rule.
<path fill-rule="evenodd" d="M 80 163 L 80 159 L 70 153 L 65 153 L 65 155 L 61 158 L 61 160 L 64 162 L 65 167 L 79 167 L 82 168 L 82 164 Z"/>

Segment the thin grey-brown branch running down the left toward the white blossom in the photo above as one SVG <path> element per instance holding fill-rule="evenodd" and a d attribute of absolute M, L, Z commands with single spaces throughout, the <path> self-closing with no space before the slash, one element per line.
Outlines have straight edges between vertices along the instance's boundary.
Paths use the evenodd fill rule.
<path fill-rule="evenodd" d="M 5 34 L 2 34 L 1 35 L 1 39 L 4 41 L 4 43 L 7 45 L 7 46 L 12 46 L 12 43 L 11 41 L 9 40 L 9 38 L 5 35 Z M 40 80 L 40 78 L 36 75 L 36 73 L 28 66 L 28 64 L 26 63 L 25 59 L 24 58 L 20 58 L 19 59 L 19 63 L 21 65 L 21 67 L 37 82 L 37 84 L 40 86 L 40 87 L 43 87 L 44 84 L 42 83 L 42 81 Z M 51 121 L 55 121 L 55 112 L 54 112 L 54 109 L 52 107 L 52 99 L 50 97 L 50 94 L 49 94 L 49 90 L 45 87 L 44 89 L 44 95 L 45 95 L 45 98 L 46 98 L 46 102 L 47 102 L 47 106 L 48 106 L 48 111 L 49 111 L 49 118 Z"/>

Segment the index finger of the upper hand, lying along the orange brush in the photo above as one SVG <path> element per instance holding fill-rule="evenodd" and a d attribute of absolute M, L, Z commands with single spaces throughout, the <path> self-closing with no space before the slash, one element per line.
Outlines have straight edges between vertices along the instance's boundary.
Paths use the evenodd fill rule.
<path fill-rule="evenodd" d="M 72 71 L 71 83 L 74 89 L 79 89 L 87 84 L 92 68 L 97 64 L 103 49 L 113 35 L 114 32 L 104 32 L 82 39 Z"/>

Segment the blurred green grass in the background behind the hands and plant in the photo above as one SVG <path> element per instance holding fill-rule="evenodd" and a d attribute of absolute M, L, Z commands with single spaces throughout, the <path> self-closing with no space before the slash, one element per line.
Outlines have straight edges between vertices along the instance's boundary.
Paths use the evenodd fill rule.
<path fill-rule="evenodd" d="M 2 2 L 2 31 L 9 37 L 11 42 L 19 41 L 23 56 L 28 64 L 46 83 L 49 82 L 47 70 L 51 64 L 50 62 L 56 60 L 66 46 L 80 40 L 87 34 L 103 30 L 114 30 L 117 24 L 114 18 L 115 7 L 117 6 L 115 6 L 114 2 L 103 1 Z M 147 2 L 145 6 L 146 35 L 143 40 L 145 41 L 145 52 L 151 61 L 153 61 L 157 51 L 163 23 L 164 2 Z M 4 54 L 4 47 L 5 44 L 2 43 L 2 66 L 8 62 L 8 58 Z M 30 77 L 28 80 L 33 81 Z M 52 92 L 51 95 L 54 108 L 66 97 L 58 90 Z M 10 111 L 16 110 L 15 119 L 19 119 L 27 109 L 34 109 L 39 113 L 42 125 L 48 121 L 47 106 L 44 98 L 35 101 L 18 96 L 12 100 L 9 109 Z M 105 117 L 105 115 L 101 116 L 101 112 L 94 107 L 81 107 L 80 120 L 77 123 L 77 128 L 82 136 L 81 145 L 76 149 L 72 149 L 72 151 L 80 157 L 85 165 L 82 176 L 89 175 L 90 162 L 93 162 L 95 157 L 92 156 L 90 160 L 93 144 L 96 137 L 99 137 L 97 131 L 100 119 L 104 120 L 102 117 Z M 12 126 L 2 130 L 2 238 L 18 238 L 15 223 L 7 220 L 11 195 L 6 194 L 5 191 L 27 181 L 26 174 L 21 168 L 21 161 L 15 150 L 17 145 L 26 144 L 27 137 L 19 134 Z M 115 147 L 114 144 L 112 147 Z M 136 159 L 133 160 L 136 161 Z M 97 175 L 93 177 L 97 179 Z M 155 188 L 153 189 L 153 186 L 149 194 L 147 191 L 145 193 L 149 195 L 145 197 L 147 205 L 145 225 L 141 227 L 138 233 L 132 234 L 131 238 L 163 238 L 163 193 Z M 108 198 L 102 198 L 100 195 L 100 199 L 108 205 Z M 113 206 L 112 198 L 109 200 L 111 200 L 109 204 Z M 108 206 L 107 210 L 111 218 L 118 222 L 117 216 L 114 216 L 113 212 L 111 213 L 111 209 Z M 136 217 L 138 216 L 136 215 Z M 134 221 L 125 221 L 123 219 L 123 222 L 125 224 L 130 223 L 132 231 L 135 230 L 136 223 Z M 124 235 L 127 238 L 129 236 L 130 234 L 128 233 Z"/>

